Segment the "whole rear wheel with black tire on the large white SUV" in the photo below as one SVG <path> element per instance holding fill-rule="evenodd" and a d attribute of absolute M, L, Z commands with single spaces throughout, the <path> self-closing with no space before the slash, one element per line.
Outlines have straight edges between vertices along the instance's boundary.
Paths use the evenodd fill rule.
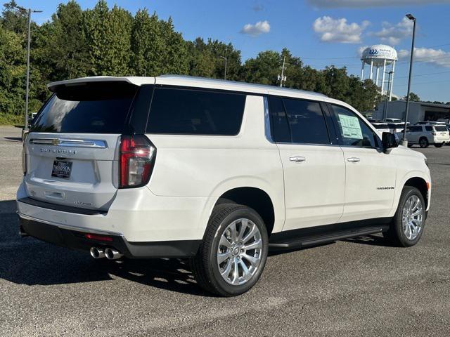
<path fill-rule="evenodd" d="M 240 235 L 242 240 L 231 239 L 233 226 L 238 237 L 240 230 L 245 228 Z M 248 240 L 245 242 L 246 238 Z M 244 250 L 250 244 L 259 248 Z M 255 210 L 239 204 L 219 204 L 212 211 L 197 255 L 191 259 L 191 269 L 198 285 L 205 291 L 219 296 L 238 296 L 258 281 L 266 264 L 268 250 L 266 226 Z M 219 251 L 223 252 L 223 256 L 228 256 L 221 263 L 218 260 Z M 250 263 L 246 256 L 256 260 Z M 237 278 L 234 277 L 236 265 Z M 244 265 L 248 273 L 245 273 Z"/>

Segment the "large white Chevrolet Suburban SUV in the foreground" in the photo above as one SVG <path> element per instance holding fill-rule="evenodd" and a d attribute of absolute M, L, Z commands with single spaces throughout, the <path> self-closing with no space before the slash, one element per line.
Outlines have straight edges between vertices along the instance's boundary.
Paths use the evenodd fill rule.
<path fill-rule="evenodd" d="M 193 77 L 89 77 L 53 92 L 24 142 L 20 233 L 94 258 L 189 258 L 248 291 L 269 247 L 423 234 L 425 157 L 318 93 Z"/>

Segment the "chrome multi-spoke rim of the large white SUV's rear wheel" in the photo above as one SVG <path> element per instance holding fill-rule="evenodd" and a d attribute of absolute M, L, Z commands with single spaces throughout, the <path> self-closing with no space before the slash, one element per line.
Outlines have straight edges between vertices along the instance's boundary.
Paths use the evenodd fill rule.
<path fill-rule="evenodd" d="M 217 265 L 224 280 L 238 286 L 257 272 L 262 259 L 262 237 L 255 223 L 238 219 L 226 227 L 217 249 Z"/>

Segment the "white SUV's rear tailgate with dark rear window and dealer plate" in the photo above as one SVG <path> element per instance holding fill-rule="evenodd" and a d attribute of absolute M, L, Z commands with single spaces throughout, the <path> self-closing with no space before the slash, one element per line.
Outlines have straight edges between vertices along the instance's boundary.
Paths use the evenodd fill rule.
<path fill-rule="evenodd" d="M 27 136 L 29 197 L 86 209 L 108 209 L 118 186 L 120 135 L 139 86 L 94 82 L 56 88 Z"/>

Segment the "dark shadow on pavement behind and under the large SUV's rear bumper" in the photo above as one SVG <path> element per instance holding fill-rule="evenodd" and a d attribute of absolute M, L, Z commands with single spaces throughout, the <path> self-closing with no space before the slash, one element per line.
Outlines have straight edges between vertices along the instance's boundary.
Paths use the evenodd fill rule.
<path fill-rule="evenodd" d="M 53 285 L 114 281 L 121 277 L 169 291 L 210 296 L 200 289 L 184 260 L 94 260 L 73 251 L 18 234 L 15 201 L 0 201 L 0 278 L 15 284 Z"/>

